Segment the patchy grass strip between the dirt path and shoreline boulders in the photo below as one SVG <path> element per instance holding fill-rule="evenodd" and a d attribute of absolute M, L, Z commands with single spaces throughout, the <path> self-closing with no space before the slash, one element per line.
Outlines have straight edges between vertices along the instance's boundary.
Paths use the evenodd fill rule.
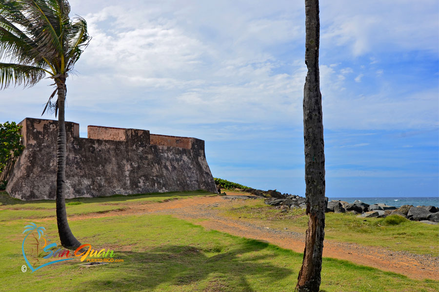
<path fill-rule="evenodd" d="M 226 216 L 244 220 L 263 220 L 264 226 L 287 227 L 305 233 L 308 217 L 304 210 L 281 213 L 273 206 L 254 200 L 250 205 L 223 209 Z M 395 251 L 439 256 L 439 226 L 410 221 L 397 215 L 386 218 L 358 218 L 346 214 L 326 213 L 325 238 L 362 245 L 381 246 Z"/>

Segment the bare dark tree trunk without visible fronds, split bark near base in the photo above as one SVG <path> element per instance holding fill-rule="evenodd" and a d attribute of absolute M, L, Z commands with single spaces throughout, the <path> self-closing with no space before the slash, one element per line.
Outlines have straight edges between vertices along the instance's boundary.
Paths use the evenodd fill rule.
<path fill-rule="evenodd" d="M 325 227 L 325 154 L 319 77 L 319 0 L 305 0 L 305 64 L 303 90 L 306 214 L 309 215 L 305 251 L 296 291 L 319 292 Z"/>

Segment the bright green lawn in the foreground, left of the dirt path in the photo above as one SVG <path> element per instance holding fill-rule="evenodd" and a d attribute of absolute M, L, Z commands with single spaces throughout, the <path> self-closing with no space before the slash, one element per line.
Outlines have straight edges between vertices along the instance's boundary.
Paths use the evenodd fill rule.
<path fill-rule="evenodd" d="M 99 212 L 107 203 L 120 208 L 128 202 L 149 203 L 196 195 L 205 194 L 80 199 L 75 201 L 82 203 L 68 205 L 67 212 L 81 212 L 76 208 L 85 206 L 89 208 L 87 212 Z M 25 262 L 21 232 L 28 222 L 44 226 L 44 237 L 59 243 L 55 218 L 40 222 L 40 218 L 28 219 L 28 214 L 32 214 L 28 212 L 35 211 L 45 212 L 46 217 L 55 212 L 53 203 L 47 201 L 0 207 L 0 291 L 292 291 L 302 261 L 302 254 L 206 231 L 170 216 L 128 215 L 70 222 L 82 243 L 89 243 L 94 249 L 112 249 L 114 258 L 123 262 L 86 267 L 74 259 L 34 273 L 22 273 Z M 45 261 L 40 258 L 40 263 Z M 321 289 L 325 292 L 433 292 L 439 291 L 438 287 L 438 281 L 413 280 L 347 261 L 323 259 Z"/>

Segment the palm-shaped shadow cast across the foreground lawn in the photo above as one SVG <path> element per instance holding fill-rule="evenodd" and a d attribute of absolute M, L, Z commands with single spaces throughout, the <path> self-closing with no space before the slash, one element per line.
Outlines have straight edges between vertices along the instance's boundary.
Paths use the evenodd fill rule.
<path fill-rule="evenodd" d="M 295 272 L 261 262 L 274 256 L 269 251 L 258 253 L 266 246 L 247 242 L 210 257 L 196 247 L 179 245 L 164 245 L 140 253 L 121 252 L 118 258 L 123 263 L 98 266 L 102 273 L 96 271 L 97 278 L 83 284 L 90 291 L 148 291 L 164 284 L 163 288 L 172 286 L 168 287 L 170 291 L 180 291 L 178 287 L 185 286 L 181 288 L 190 291 L 252 292 L 246 276 L 258 279 L 266 287 Z M 117 271 L 110 272 L 111 269 Z M 108 272 L 115 276 L 100 277 L 108 276 Z"/>

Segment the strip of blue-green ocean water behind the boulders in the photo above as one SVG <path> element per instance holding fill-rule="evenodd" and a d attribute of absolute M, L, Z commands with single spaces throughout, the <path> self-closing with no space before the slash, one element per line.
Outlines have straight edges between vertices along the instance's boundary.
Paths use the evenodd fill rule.
<path fill-rule="evenodd" d="M 439 197 L 410 197 L 410 198 L 398 198 L 398 197 L 380 197 L 380 198 L 329 198 L 331 200 L 347 201 L 353 203 L 355 200 L 363 201 L 369 205 L 384 203 L 389 206 L 400 207 L 402 205 L 414 205 L 416 206 L 439 206 Z"/>

